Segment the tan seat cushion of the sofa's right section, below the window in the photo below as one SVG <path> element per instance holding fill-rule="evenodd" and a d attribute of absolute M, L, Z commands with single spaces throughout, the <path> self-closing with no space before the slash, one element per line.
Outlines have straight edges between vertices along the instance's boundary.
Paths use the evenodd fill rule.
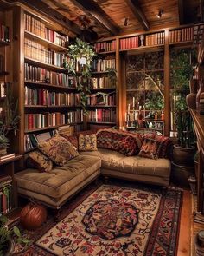
<path fill-rule="evenodd" d="M 101 173 L 103 168 L 116 170 L 128 174 L 142 174 L 169 178 L 170 161 L 168 159 L 147 159 L 140 156 L 126 157 L 123 154 L 109 150 L 99 149 L 94 152 L 80 152 L 80 154 L 96 155 L 101 158 Z"/>

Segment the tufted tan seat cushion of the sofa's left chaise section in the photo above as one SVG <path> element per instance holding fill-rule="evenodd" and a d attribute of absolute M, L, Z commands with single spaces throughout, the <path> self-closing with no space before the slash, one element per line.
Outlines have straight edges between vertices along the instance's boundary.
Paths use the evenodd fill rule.
<path fill-rule="evenodd" d="M 58 200 L 99 170 L 100 166 L 101 160 L 98 157 L 79 155 L 63 167 L 54 167 L 49 173 L 29 168 L 16 173 L 15 179 L 17 187 Z"/>

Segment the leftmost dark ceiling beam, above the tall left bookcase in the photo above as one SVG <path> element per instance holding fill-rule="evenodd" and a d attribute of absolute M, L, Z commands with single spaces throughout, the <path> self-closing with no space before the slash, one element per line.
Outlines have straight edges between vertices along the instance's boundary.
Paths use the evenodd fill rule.
<path fill-rule="evenodd" d="M 33 0 L 18 0 L 18 2 L 24 3 L 30 8 L 40 11 L 43 15 L 49 16 L 50 18 L 54 19 L 57 23 L 66 26 L 67 30 L 72 31 L 74 34 L 81 35 L 82 30 L 80 30 L 80 27 L 77 24 L 70 21 L 66 16 L 61 15 L 61 13 L 59 13 L 58 11 L 51 9 L 48 6 L 48 4 L 43 3 L 41 1 Z"/>

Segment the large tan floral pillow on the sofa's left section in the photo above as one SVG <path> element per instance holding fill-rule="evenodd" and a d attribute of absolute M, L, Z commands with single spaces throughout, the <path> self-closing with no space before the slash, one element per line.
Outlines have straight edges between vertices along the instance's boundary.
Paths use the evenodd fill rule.
<path fill-rule="evenodd" d="M 48 141 L 41 141 L 38 148 L 46 154 L 54 163 L 63 166 L 67 161 L 78 156 L 79 153 L 73 148 L 72 143 L 60 135 L 55 135 Z"/>

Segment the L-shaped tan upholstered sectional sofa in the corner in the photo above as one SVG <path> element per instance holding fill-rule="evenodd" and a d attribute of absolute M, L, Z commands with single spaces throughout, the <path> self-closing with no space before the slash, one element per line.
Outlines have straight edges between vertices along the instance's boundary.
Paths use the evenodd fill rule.
<path fill-rule="evenodd" d="M 116 134 L 112 133 L 113 141 L 116 140 Z M 118 136 L 118 135 L 117 135 Z M 124 135 L 121 135 L 124 138 Z M 128 140 L 127 140 L 128 139 Z M 17 192 L 19 195 L 39 200 L 49 207 L 60 208 L 73 194 L 76 194 L 82 187 L 96 179 L 100 174 L 105 177 L 117 177 L 131 181 L 142 181 L 168 187 L 170 177 L 170 161 L 166 158 L 149 159 L 139 155 L 127 156 L 121 154 L 130 154 L 138 150 L 141 145 L 132 147 L 134 136 L 125 137 L 124 147 L 121 138 L 118 144 L 113 145 L 113 141 L 108 138 L 108 144 L 105 146 L 104 137 L 99 142 L 100 147 L 93 151 L 80 151 L 80 155 L 67 161 L 62 167 L 55 166 L 49 172 L 39 172 L 35 168 L 27 168 L 15 174 Z M 129 151 L 128 142 L 131 143 Z M 129 143 L 129 144 L 130 144 Z M 137 140 L 137 143 L 140 143 Z M 86 144 L 86 143 L 85 143 Z M 122 148 L 121 148 L 122 147 Z"/>

